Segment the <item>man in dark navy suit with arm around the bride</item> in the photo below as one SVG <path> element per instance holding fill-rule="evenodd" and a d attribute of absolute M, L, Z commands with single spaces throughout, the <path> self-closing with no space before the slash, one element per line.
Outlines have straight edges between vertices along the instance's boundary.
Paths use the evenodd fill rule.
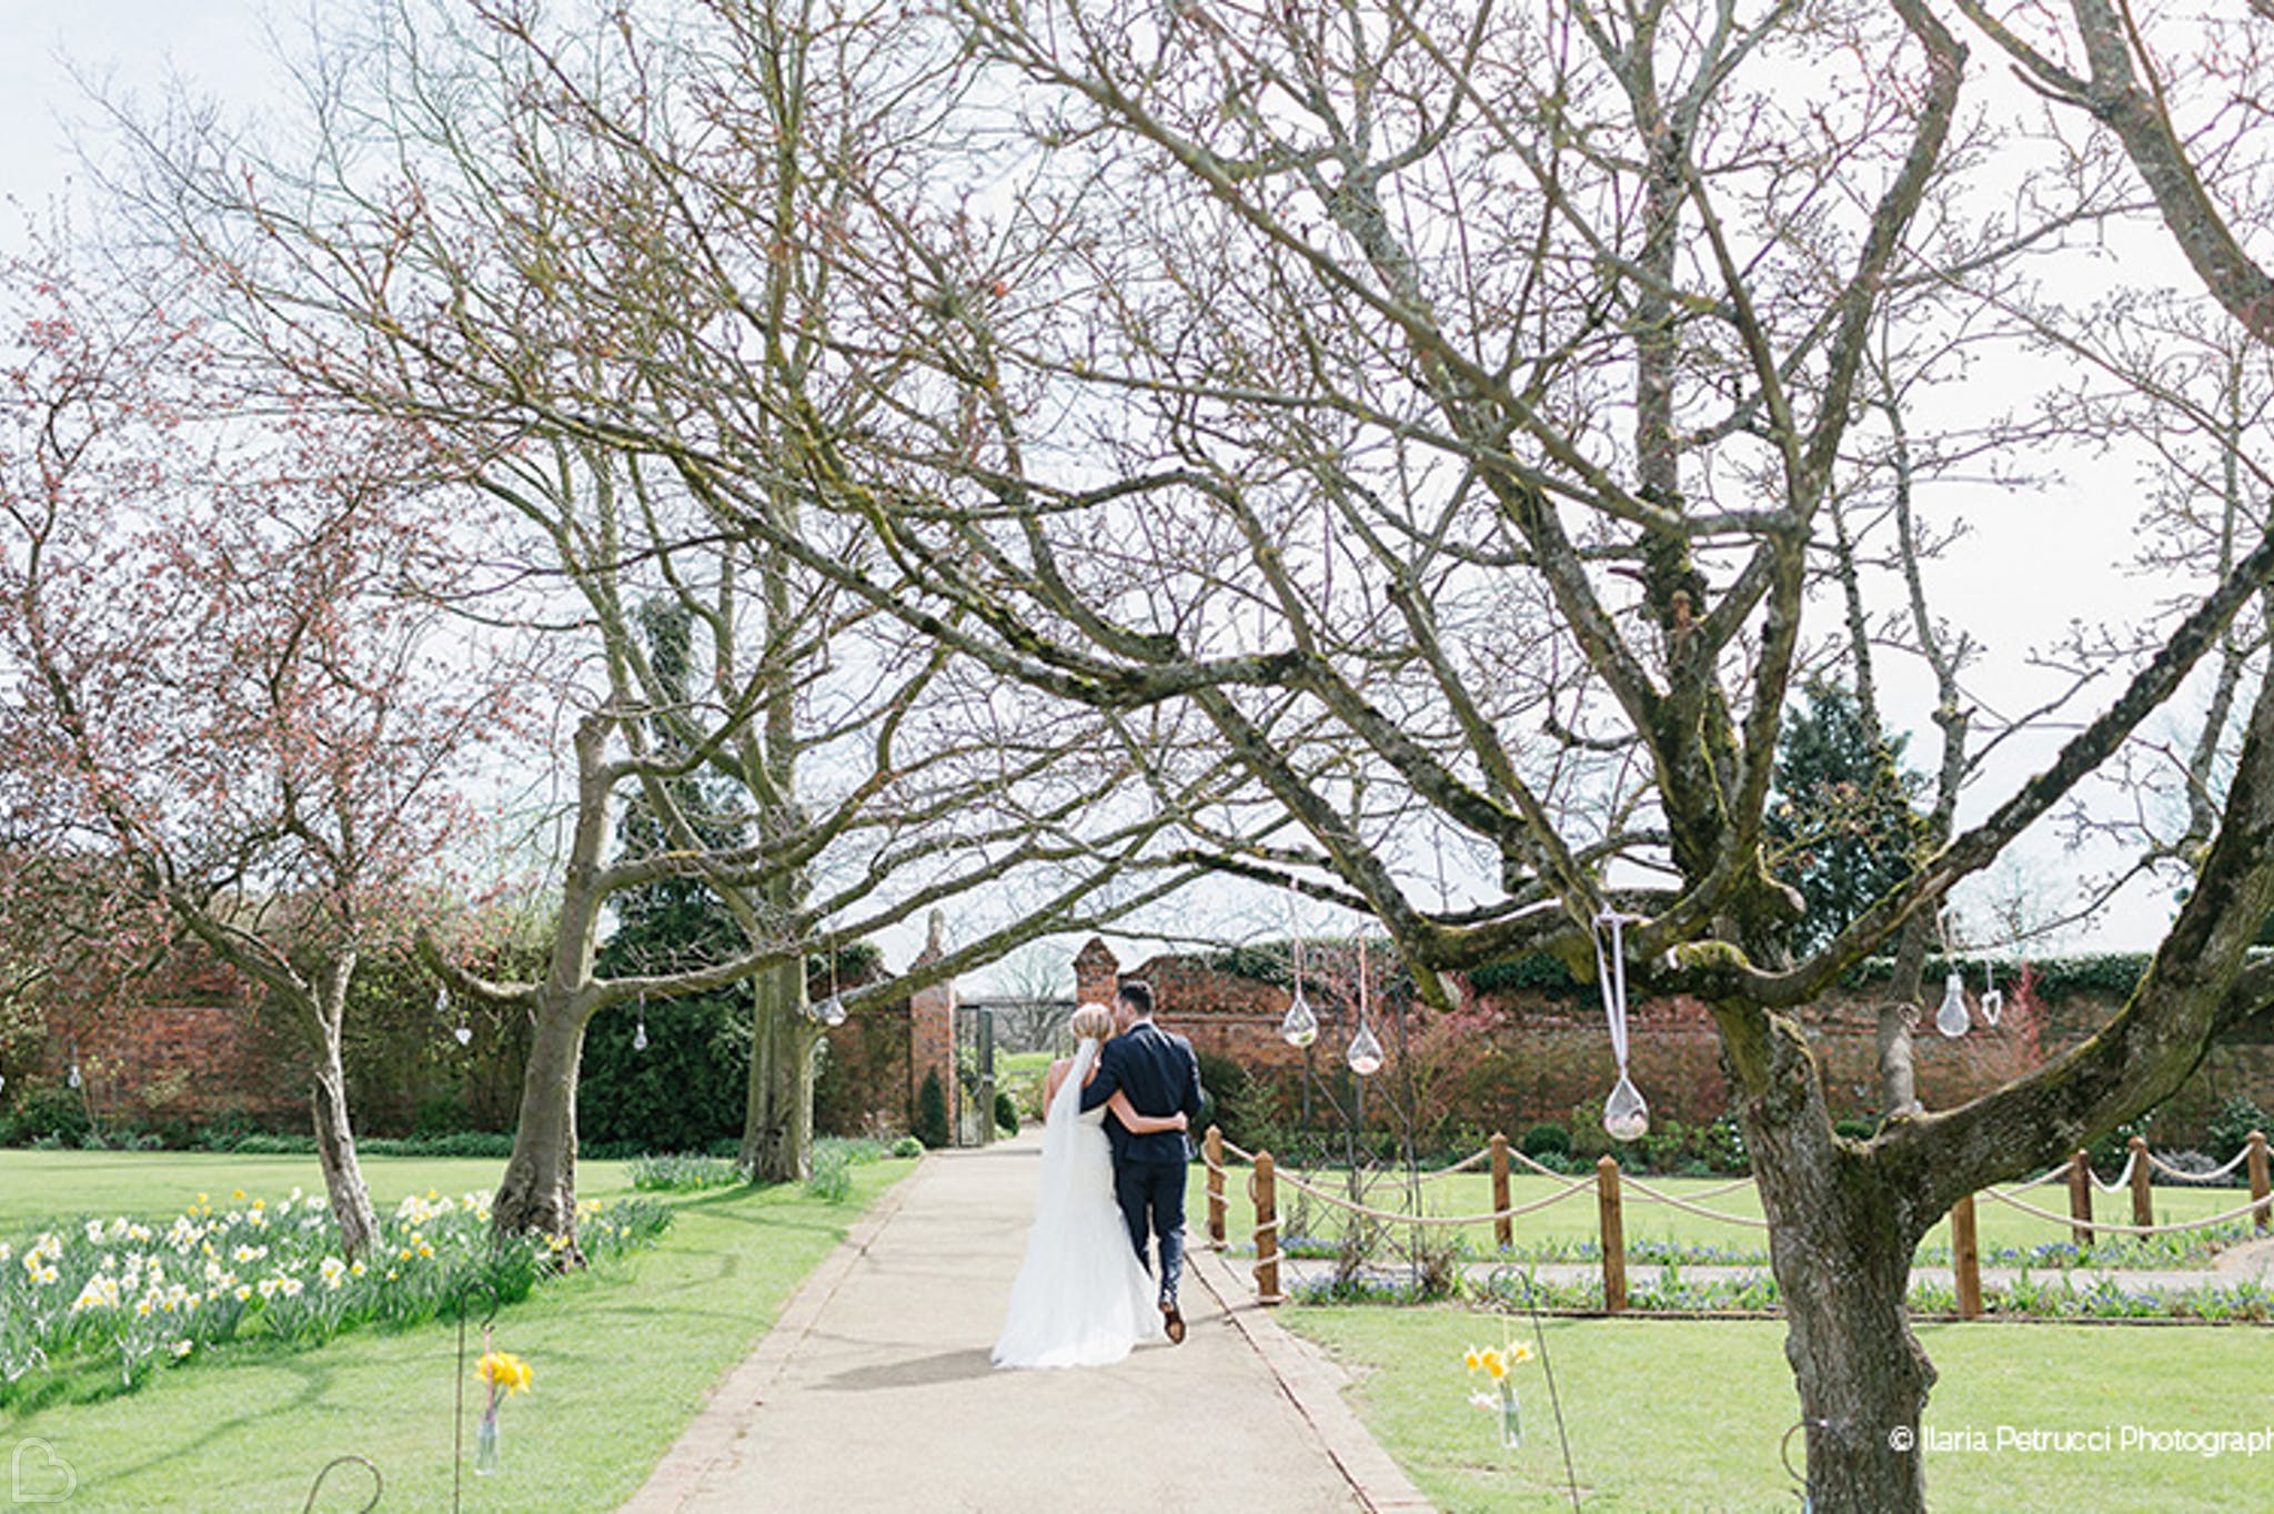
<path fill-rule="evenodd" d="M 1082 1089 L 1082 1109 L 1096 1109 L 1114 1089 L 1130 1096 L 1137 1114 L 1167 1118 L 1178 1109 L 1201 1123 L 1201 1064 L 1192 1041 L 1153 1023 L 1153 989 L 1126 982 L 1114 996 L 1114 1039 L 1098 1053 L 1098 1075 Z M 1185 1341 L 1185 1316 L 1176 1307 L 1176 1282 L 1185 1271 L 1185 1164 L 1192 1143 L 1178 1130 L 1130 1134 L 1112 1114 L 1105 1139 L 1114 1146 L 1114 1198 L 1128 1221 L 1130 1243 L 1146 1271 L 1146 1237 L 1160 1239 L 1160 1314 L 1169 1341 Z"/>

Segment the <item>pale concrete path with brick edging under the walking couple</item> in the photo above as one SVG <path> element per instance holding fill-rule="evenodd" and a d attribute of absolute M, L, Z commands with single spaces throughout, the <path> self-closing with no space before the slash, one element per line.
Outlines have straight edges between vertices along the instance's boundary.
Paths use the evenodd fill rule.
<path fill-rule="evenodd" d="M 987 1362 L 1039 1132 L 935 1153 L 805 1282 L 625 1514 L 1426 1509 L 1342 1373 L 1194 1255 L 1182 1346 L 1110 1369 Z M 1226 1298 L 1233 1307 L 1226 1307 Z"/>

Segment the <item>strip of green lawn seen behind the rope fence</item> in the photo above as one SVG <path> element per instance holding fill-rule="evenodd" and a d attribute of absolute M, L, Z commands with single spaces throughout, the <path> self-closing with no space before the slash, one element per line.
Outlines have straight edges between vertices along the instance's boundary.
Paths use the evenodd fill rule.
<path fill-rule="evenodd" d="M 1205 1180 L 1207 1168 L 1194 1164 L 1187 1209 L 1192 1212 L 1194 1225 L 1203 1223 L 1207 1216 L 1205 1205 Z M 1342 1175 L 1323 1173 L 1310 1180 L 1312 1187 L 1323 1187 L 1328 1191 L 1342 1193 Z M 1690 1203 L 1701 1203 L 1701 1207 L 1719 1214 L 1742 1214 L 1760 1218 L 1760 1198 L 1751 1187 L 1731 1189 L 1728 1193 L 1712 1193 L 1699 1200 L 1699 1193 L 1710 1193 L 1728 1184 L 1728 1178 L 1644 1178 L 1644 1184 L 1674 1193 Z M 1549 1198 L 1562 1187 L 1562 1180 L 1524 1175 L 1510 1180 L 1510 1203 L 1528 1205 Z M 1248 1171 L 1230 1168 L 1226 1184 L 1226 1209 L 1228 1209 L 1228 1239 L 1235 1246 L 1246 1246 L 1253 1241 L 1255 1207 L 1248 1200 Z M 1369 1203 L 1378 1209 L 1401 1207 L 1405 1189 L 1392 1178 L 1376 1178 L 1369 1189 Z M 1421 1184 L 1424 1205 L 1428 1214 L 1489 1214 L 1492 1212 L 1492 1178 L 1485 1173 L 1455 1173 L 1451 1178 L 1439 1178 L 1435 1182 Z M 1292 1191 L 1280 1191 L 1280 1221 L 1283 1234 L 1296 1234 L 1294 1212 L 1289 1209 Z M 2042 1187 L 2022 1193 L 2024 1203 L 2040 1209 L 2051 1209 L 2056 1214 L 2067 1214 L 2069 1200 L 2063 1187 Z M 2244 1189 L 2192 1189 L 2192 1187 L 2158 1187 L 2153 1198 L 2156 1223 L 2208 1218 L 2213 1214 L 2226 1214 L 2249 1203 L 2249 1191 Z M 1323 1203 L 1312 1200 L 1312 1230 L 1319 1234 L 1339 1234 L 1344 1216 L 1328 1209 Z M 1687 1243 L 1687 1246 L 1717 1246 L 1737 1253 L 1767 1255 L 1767 1232 L 1749 1225 L 1731 1225 L 1712 1218 L 1701 1218 L 1683 1209 L 1671 1209 L 1660 1203 L 1646 1203 L 1633 1189 L 1626 1191 L 1624 1225 L 1628 1243 L 1640 1241 L 1665 1241 L 1665 1243 Z M 2126 1193 L 2094 1193 L 2094 1214 L 2110 1223 L 2131 1223 L 2131 1198 Z M 1999 1248 L 2033 1248 L 2047 1243 L 2065 1243 L 2069 1239 L 2069 1228 L 2065 1223 L 2042 1221 L 2019 1209 L 2010 1209 L 2001 1203 L 1976 1200 L 1976 1234 L 1983 1248 L 1983 1262 L 1997 1262 L 1994 1253 Z M 1535 1214 L 1524 1214 L 1514 1221 L 1517 1255 L 1533 1255 L 1535 1259 L 1560 1259 L 1571 1246 L 1580 1241 L 1596 1239 L 1596 1198 L 1592 1189 L 1571 1193 L 1560 1203 L 1553 1203 Z M 1492 1225 L 1469 1225 L 1460 1230 L 1462 1239 L 1476 1255 L 1487 1255 L 1494 1250 Z M 1949 1250 L 1949 1221 L 1937 1223 L 1926 1239 L 1924 1248 L 1940 1248 L 1937 1255 Z M 2174 1262 L 2138 1262 L 2140 1266 L 2174 1266 Z M 2274 1500 L 2269 1500 L 2274 1503 Z"/>

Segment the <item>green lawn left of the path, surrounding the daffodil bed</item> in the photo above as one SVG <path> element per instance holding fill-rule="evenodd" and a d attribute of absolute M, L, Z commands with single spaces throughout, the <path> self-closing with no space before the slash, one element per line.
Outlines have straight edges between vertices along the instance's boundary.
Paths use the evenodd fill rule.
<path fill-rule="evenodd" d="M 368 1159 L 375 1198 L 491 1187 L 500 1162 Z M 675 1200 L 662 1246 L 550 1282 L 498 1318 L 498 1348 L 534 1387 L 505 1409 L 505 1475 L 473 1478 L 466 1509 L 614 1509 L 684 1430 L 705 1391 L 764 1334 L 846 1228 L 912 1162 L 853 1171 L 853 1198 L 712 1189 Z M 623 1191 L 616 1164 L 582 1168 L 584 1196 Z M 77 1214 L 159 1216 L 196 1198 L 316 1191 L 314 1159 L 161 1153 L 0 1153 L 0 1234 Z M 362 1453 L 389 1509 L 450 1507 L 455 1332 L 359 1332 L 316 1350 L 239 1346 L 159 1371 L 102 1403 L 0 1412 L 0 1455 L 45 1441 L 77 1473 L 70 1509 L 298 1509 L 316 1469 Z M 478 1384 L 471 1384 L 475 1403 Z M 368 1484 L 362 1484 L 368 1487 Z M 334 1498 L 337 1494 L 337 1498 Z M 337 1473 L 327 1509 L 364 1491 Z"/>

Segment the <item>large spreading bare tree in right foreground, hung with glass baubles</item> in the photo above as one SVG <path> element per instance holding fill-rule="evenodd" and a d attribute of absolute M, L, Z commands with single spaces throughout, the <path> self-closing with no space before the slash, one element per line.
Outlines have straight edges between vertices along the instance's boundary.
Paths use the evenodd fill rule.
<path fill-rule="evenodd" d="M 1799 1012 L 2110 762 L 2274 566 L 2238 550 L 2038 777 L 1790 955 L 1762 805 L 1874 334 L 1901 277 L 2040 232 L 1960 234 L 1937 200 L 1985 150 L 1956 134 L 1958 39 L 1910 2 L 962 23 L 1023 77 L 1041 166 L 989 236 L 866 175 L 857 234 L 830 227 L 873 325 L 771 380 L 875 396 L 860 427 L 785 402 L 812 507 L 889 552 L 835 580 L 1035 689 L 1198 712 L 1292 825 L 1196 823 L 1196 859 L 1380 918 L 1439 1000 L 1512 950 L 1592 971 L 1601 916 L 1640 914 L 1635 980 L 1706 998 L 1740 1089 L 1815 1505 L 1924 1507 L 1890 1448 L 1933 1378 L 1903 1312 L 1917 1239 L 2263 1005 L 2244 946 L 2274 900 L 2260 705 L 2204 882 L 2108 1032 L 1960 1109 L 1833 1132 Z M 1792 55 L 1824 80 L 1806 102 Z M 796 550 L 746 509 L 755 475 L 673 446 Z M 1978 748 L 1958 727 L 1951 752 Z M 1496 891 L 1433 902 L 1439 846 Z"/>

